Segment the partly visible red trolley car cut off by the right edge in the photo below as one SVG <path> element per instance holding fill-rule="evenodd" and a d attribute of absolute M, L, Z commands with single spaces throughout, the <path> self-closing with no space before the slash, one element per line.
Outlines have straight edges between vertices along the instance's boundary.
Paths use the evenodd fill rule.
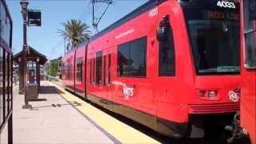
<path fill-rule="evenodd" d="M 256 143 L 256 2 L 243 0 L 241 124 Z"/>

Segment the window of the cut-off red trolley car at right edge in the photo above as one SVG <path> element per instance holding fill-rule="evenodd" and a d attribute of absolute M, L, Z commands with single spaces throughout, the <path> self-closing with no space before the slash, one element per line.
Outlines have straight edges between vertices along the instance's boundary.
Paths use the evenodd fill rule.
<path fill-rule="evenodd" d="M 244 0 L 246 68 L 256 69 L 256 2 Z"/>

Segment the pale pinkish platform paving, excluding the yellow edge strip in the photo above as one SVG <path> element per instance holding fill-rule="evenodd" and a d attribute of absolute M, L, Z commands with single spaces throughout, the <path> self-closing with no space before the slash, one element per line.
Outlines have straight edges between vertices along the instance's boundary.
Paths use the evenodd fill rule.
<path fill-rule="evenodd" d="M 14 87 L 14 143 L 114 143 L 73 107 L 78 102 L 66 102 L 47 82 L 39 98 L 46 101 L 30 102 L 33 109 L 23 110 L 24 95 Z"/>

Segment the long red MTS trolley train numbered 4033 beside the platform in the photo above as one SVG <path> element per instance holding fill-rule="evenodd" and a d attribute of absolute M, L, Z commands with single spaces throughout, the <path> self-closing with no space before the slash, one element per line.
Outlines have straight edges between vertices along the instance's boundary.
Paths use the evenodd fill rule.
<path fill-rule="evenodd" d="M 239 110 L 239 3 L 150 0 L 70 51 L 63 85 L 171 137 L 202 138 Z"/>

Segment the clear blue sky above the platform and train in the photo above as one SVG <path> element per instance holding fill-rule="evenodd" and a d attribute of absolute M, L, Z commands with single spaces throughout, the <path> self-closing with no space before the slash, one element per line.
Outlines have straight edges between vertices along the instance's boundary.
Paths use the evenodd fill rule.
<path fill-rule="evenodd" d="M 22 50 L 22 14 L 19 0 L 6 0 L 14 22 L 13 48 L 14 54 Z M 28 27 L 28 44 L 45 54 L 47 58 L 58 58 L 64 53 L 64 41 L 57 33 L 62 29 L 61 22 L 79 18 L 91 26 L 92 8 L 88 8 L 90 0 L 29 0 L 30 9 L 42 10 L 42 26 Z M 99 23 L 98 30 L 122 18 L 130 11 L 141 6 L 146 0 L 114 0 Z M 100 15 L 106 5 L 96 5 L 96 15 Z M 87 9 L 86 9 L 87 8 Z M 84 12 L 84 13 L 83 13 Z M 93 29 L 91 29 L 94 31 Z"/>

